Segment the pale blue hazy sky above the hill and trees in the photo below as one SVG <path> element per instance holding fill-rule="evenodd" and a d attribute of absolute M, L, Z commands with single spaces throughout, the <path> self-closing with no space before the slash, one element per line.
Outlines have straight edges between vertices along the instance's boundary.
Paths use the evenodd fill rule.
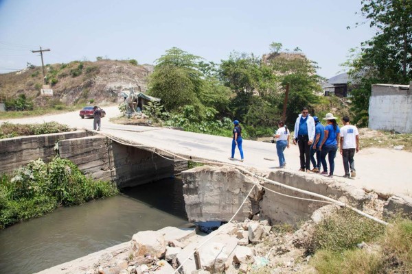
<path fill-rule="evenodd" d="M 74 60 L 155 64 L 178 47 L 206 61 L 299 47 L 330 78 L 351 48 L 374 35 L 361 0 L 0 0 L 0 73 Z M 358 12 L 358 14 L 356 14 Z M 347 26 L 352 26 L 347 29 Z"/>

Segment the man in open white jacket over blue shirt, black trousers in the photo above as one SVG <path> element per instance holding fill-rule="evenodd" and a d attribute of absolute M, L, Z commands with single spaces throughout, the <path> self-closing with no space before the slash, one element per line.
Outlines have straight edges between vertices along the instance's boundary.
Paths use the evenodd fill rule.
<path fill-rule="evenodd" d="M 293 144 L 299 145 L 301 168 L 299 171 L 310 172 L 310 146 L 314 139 L 314 120 L 309 115 L 308 108 L 302 108 L 302 113 L 296 119 Z"/>

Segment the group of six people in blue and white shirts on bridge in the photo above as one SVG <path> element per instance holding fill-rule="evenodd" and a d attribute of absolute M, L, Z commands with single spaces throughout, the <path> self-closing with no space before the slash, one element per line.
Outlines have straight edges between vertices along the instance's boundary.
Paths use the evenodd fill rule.
<path fill-rule="evenodd" d="M 343 127 L 339 127 L 337 118 L 332 113 L 325 115 L 323 120 L 326 125 L 322 125 L 317 116 L 310 116 L 308 108 L 302 108 L 301 114 L 296 119 L 293 134 L 293 144 L 299 146 L 299 171 L 321 173 L 322 175 L 333 177 L 334 158 L 340 147 L 343 158 L 343 177 L 355 177 L 356 170 L 354 155 L 359 151 L 359 132 L 356 126 L 350 124 L 349 117 L 342 119 Z M 239 121 L 233 121 L 233 140 L 231 158 L 233 159 L 236 146 L 240 150 L 241 160 L 244 160 L 242 150 L 242 128 Z M 278 129 L 273 135 L 276 138 L 276 151 L 279 158 L 279 169 L 286 166 L 284 150 L 289 148 L 290 131 L 284 121 L 279 121 Z M 328 164 L 326 157 L 328 156 Z M 310 169 L 312 162 L 313 168 Z"/>

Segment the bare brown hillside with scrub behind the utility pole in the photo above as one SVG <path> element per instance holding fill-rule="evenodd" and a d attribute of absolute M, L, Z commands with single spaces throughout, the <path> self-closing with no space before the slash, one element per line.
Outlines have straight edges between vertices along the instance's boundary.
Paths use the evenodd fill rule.
<path fill-rule="evenodd" d="M 69 64 L 47 65 L 45 72 L 54 97 L 42 97 L 41 66 L 30 66 L 22 71 L 0 74 L 0 94 L 10 98 L 25 94 L 33 99 L 36 106 L 89 101 L 114 103 L 123 88 L 140 86 L 141 91 L 146 91 L 148 75 L 152 71 L 152 65 L 131 64 L 127 60 L 73 61 Z"/>

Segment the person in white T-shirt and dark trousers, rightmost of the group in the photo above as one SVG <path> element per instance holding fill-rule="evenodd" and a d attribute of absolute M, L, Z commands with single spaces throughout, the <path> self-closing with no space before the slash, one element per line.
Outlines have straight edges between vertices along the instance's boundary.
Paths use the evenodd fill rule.
<path fill-rule="evenodd" d="M 358 128 L 354 125 L 350 125 L 349 117 L 345 116 L 342 119 L 343 127 L 341 128 L 341 155 L 343 158 L 343 168 L 345 169 L 345 175 L 343 177 L 355 177 L 355 152 L 359 151 L 359 132 Z M 349 168 L 351 174 L 349 174 Z"/>

